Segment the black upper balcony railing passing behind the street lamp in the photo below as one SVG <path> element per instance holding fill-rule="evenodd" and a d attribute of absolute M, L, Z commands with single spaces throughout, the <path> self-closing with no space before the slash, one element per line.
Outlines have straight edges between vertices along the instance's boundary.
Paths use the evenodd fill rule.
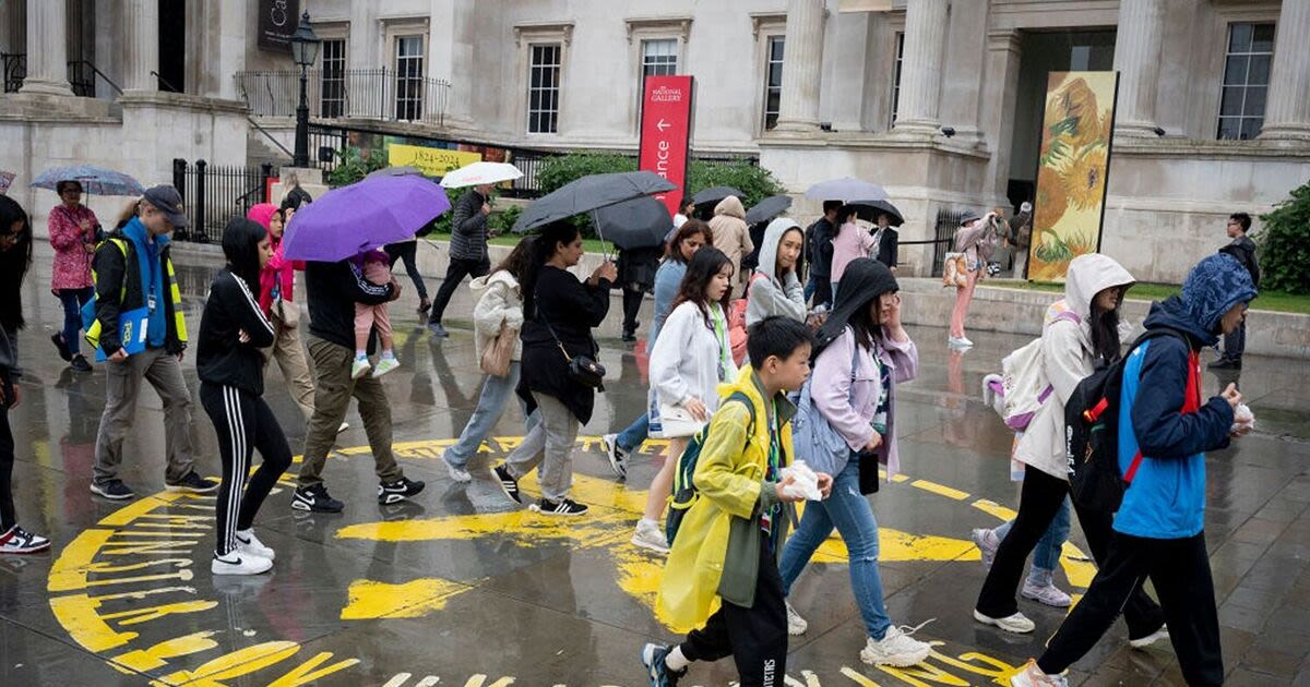
<path fill-rule="evenodd" d="M 255 116 L 295 116 L 297 69 L 237 72 L 237 90 Z M 309 69 L 309 116 L 443 124 L 451 82 L 397 69 Z"/>

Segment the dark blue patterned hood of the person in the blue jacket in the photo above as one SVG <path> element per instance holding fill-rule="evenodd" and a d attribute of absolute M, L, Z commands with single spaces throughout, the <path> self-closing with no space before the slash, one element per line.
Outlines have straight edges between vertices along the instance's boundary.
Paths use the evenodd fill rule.
<path fill-rule="evenodd" d="M 1237 258 L 1218 253 L 1205 258 L 1187 275 L 1183 293 L 1151 304 L 1144 323 L 1148 330 L 1170 327 L 1186 332 L 1200 345 L 1218 343 L 1220 319 L 1239 302 L 1256 297 L 1251 273 Z"/>

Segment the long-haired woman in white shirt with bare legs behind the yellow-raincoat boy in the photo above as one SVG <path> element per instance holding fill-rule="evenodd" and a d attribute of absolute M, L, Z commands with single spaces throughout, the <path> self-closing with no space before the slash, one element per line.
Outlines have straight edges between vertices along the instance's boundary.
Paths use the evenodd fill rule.
<path fill-rule="evenodd" d="M 727 322 L 731 291 L 732 260 L 718 249 L 697 251 L 686 266 L 686 276 L 673 298 L 673 311 L 664 321 L 651 352 L 648 416 L 659 417 L 660 406 L 673 406 L 697 421 L 709 423 L 718 410 L 719 383 L 736 378 Z M 669 440 L 664 466 L 651 482 L 646 512 L 633 533 L 634 544 L 660 554 L 668 552 L 668 539 L 659 518 L 673 487 L 673 470 L 690 436 L 665 434 L 664 438 Z"/>

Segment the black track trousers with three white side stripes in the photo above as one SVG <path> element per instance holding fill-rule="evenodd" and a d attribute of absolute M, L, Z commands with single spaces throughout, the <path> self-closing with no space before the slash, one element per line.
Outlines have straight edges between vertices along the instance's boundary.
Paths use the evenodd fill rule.
<path fill-rule="evenodd" d="M 237 530 L 248 530 L 278 478 L 291 466 L 291 446 L 278 419 L 262 398 L 234 386 L 200 382 L 200 404 L 219 434 L 223 484 L 219 487 L 217 544 L 214 552 L 227 556 L 236 548 Z M 241 485 L 250 471 L 250 454 L 259 449 L 263 465 Z"/>

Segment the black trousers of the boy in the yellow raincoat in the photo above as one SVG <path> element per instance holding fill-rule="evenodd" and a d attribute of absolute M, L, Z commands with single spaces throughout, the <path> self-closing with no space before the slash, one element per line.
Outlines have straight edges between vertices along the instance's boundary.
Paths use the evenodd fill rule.
<path fill-rule="evenodd" d="M 741 687 L 781 686 L 787 671 L 787 607 L 778 561 L 768 537 L 760 543 L 760 573 L 756 577 L 755 606 L 749 608 L 723 602 L 683 643 L 689 661 L 718 661 L 728 656 L 736 662 Z"/>

